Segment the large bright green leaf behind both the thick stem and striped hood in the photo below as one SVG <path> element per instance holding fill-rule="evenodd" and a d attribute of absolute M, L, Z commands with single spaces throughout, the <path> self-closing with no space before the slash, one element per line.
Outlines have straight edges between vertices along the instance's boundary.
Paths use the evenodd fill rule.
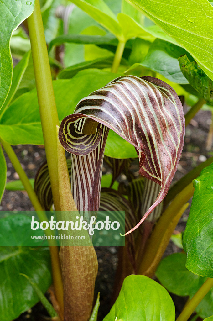
<path fill-rule="evenodd" d="M 71 79 L 53 81 L 59 120 L 72 113 L 83 97 L 118 76 L 120 74 L 87 69 Z M 12 145 L 44 143 L 36 89 L 21 95 L 5 110 L 0 120 L 0 134 Z M 120 158 L 137 157 L 134 147 L 114 132 L 109 134 L 106 154 L 111 157 L 117 157 L 119 154 Z"/>

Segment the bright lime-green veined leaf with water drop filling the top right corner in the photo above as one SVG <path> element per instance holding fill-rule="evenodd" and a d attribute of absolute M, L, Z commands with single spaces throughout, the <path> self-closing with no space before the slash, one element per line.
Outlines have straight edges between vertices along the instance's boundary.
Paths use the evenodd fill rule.
<path fill-rule="evenodd" d="M 185 48 L 213 80 L 213 8 L 207 0 L 127 0 Z"/>

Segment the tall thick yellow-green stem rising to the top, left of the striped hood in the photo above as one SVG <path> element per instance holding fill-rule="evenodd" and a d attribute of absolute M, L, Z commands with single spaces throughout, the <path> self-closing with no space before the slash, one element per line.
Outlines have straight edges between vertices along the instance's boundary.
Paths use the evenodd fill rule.
<path fill-rule="evenodd" d="M 57 170 L 57 140 L 55 131 L 55 126 L 59 125 L 59 120 L 55 104 L 55 96 L 39 0 L 35 1 L 35 9 L 31 16 L 27 19 L 27 22 L 54 207 L 56 211 L 60 211 Z"/>

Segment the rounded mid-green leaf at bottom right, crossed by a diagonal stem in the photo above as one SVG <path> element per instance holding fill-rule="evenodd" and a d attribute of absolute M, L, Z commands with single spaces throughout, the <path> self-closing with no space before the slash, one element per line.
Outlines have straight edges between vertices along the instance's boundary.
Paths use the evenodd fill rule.
<path fill-rule="evenodd" d="M 156 276 L 169 292 L 192 298 L 206 281 L 206 278 L 193 274 L 186 269 L 185 264 L 185 253 L 171 254 L 160 262 Z M 197 314 L 202 319 L 213 314 L 212 300 L 213 289 L 207 293 L 196 308 Z"/>

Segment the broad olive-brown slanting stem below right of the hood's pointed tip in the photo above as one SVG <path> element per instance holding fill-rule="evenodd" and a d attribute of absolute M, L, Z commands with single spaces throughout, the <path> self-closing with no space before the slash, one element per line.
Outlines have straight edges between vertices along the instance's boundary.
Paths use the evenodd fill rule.
<path fill-rule="evenodd" d="M 158 267 L 159 260 L 165 250 L 165 235 L 165 239 L 169 242 L 169 233 L 167 233 L 167 231 L 169 230 L 171 233 L 173 232 L 176 226 L 175 224 L 178 223 L 178 220 L 175 218 L 178 217 L 178 213 L 182 212 L 182 209 L 184 209 L 185 204 L 193 196 L 193 193 L 194 187 L 192 183 L 190 183 L 175 197 L 163 212 L 149 238 L 149 241 L 147 242 L 139 268 L 139 274 L 145 274 L 149 277 L 153 276 Z M 161 248 L 160 250 L 159 247 Z"/>

